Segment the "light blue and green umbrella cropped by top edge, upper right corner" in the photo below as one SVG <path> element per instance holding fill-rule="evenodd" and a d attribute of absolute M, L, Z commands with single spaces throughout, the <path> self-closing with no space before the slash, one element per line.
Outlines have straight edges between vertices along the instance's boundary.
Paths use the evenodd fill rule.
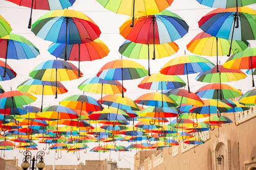
<path fill-rule="evenodd" d="M 233 7 L 243 7 L 246 5 L 254 4 L 253 0 L 197 0 L 202 5 L 211 7 L 211 8 L 233 8 Z"/>

